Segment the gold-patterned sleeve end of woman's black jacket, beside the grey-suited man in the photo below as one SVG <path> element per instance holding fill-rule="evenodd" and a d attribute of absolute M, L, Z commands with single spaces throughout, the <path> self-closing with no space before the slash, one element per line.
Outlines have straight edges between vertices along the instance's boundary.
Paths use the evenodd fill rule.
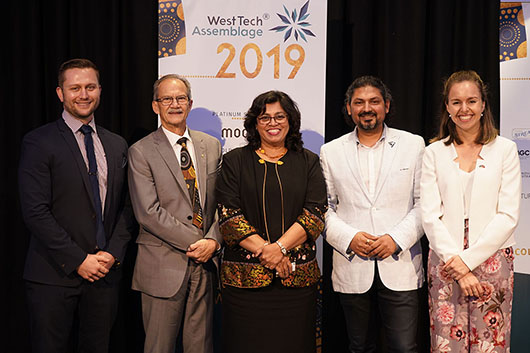
<path fill-rule="evenodd" d="M 241 209 L 227 208 L 221 204 L 218 209 L 219 229 L 228 246 L 237 245 L 252 234 L 258 234 L 257 229 L 245 219 Z"/>

